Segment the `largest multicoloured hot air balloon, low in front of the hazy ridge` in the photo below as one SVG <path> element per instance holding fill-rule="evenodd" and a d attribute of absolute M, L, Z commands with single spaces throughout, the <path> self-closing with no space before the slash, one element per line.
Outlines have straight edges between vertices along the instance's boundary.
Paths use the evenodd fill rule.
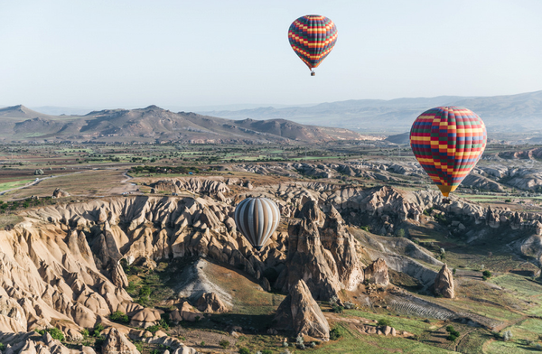
<path fill-rule="evenodd" d="M 416 118 L 410 146 L 444 197 L 471 172 L 483 154 L 487 132 L 481 118 L 461 107 L 436 107 Z"/>

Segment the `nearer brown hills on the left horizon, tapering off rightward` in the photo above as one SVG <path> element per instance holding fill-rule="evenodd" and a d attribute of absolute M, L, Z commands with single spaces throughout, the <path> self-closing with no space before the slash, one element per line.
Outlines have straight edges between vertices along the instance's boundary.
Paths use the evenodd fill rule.
<path fill-rule="evenodd" d="M 0 108 L 0 141 L 101 143 L 313 143 L 371 138 L 336 127 L 285 119 L 229 120 L 160 107 L 106 109 L 85 116 L 52 116 L 24 106 Z"/>

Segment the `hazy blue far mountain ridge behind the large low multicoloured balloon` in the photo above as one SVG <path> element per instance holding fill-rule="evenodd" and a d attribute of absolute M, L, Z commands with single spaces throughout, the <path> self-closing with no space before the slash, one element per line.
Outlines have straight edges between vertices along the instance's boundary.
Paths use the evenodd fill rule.
<path fill-rule="evenodd" d="M 313 107 L 259 107 L 199 113 L 229 119 L 289 119 L 301 124 L 391 134 L 409 130 L 416 116 L 438 106 L 469 108 L 481 116 L 490 132 L 542 130 L 542 91 L 494 97 L 359 99 L 322 103 Z"/>

